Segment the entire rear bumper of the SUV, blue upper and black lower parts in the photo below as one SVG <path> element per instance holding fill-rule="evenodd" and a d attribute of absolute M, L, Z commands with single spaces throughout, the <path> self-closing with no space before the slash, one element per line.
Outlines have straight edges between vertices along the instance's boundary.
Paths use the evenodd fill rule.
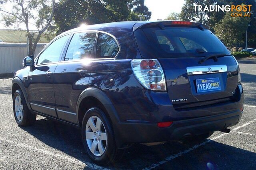
<path fill-rule="evenodd" d="M 116 143 L 122 148 L 130 143 L 180 140 L 187 136 L 218 131 L 236 125 L 242 117 L 240 109 L 244 104 L 242 85 L 238 85 L 238 90 L 236 102 L 219 103 L 184 111 L 175 110 L 172 104 L 169 104 L 170 100 L 166 94 L 151 92 L 149 96 L 154 101 L 154 105 L 137 104 L 136 107 L 146 106 L 146 108 L 128 113 L 128 108 L 136 107 L 123 106 L 124 113 L 118 111 L 117 115 L 122 116 L 120 116 L 120 121 L 113 123 Z M 165 121 L 173 121 L 173 123 L 167 128 L 157 126 L 158 122 Z"/>

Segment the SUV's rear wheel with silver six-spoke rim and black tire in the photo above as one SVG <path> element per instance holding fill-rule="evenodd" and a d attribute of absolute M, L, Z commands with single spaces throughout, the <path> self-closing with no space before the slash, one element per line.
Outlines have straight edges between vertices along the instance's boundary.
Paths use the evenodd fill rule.
<path fill-rule="evenodd" d="M 82 140 L 88 156 L 97 164 L 108 165 L 121 157 L 110 120 L 98 107 L 88 109 L 84 115 Z"/>

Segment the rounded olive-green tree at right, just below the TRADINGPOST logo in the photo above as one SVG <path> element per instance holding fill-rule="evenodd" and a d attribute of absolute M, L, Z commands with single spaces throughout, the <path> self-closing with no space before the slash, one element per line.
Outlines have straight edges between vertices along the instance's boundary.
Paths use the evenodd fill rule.
<path fill-rule="evenodd" d="M 222 40 L 227 47 L 235 47 L 244 43 L 244 32 L 248 29 L 250 18 L 230 17 L 231 12 L 227 12 L 224 18 L 215 27 L 216 36 Z M 245 13 L 243 13 L 244 15 Z"/>

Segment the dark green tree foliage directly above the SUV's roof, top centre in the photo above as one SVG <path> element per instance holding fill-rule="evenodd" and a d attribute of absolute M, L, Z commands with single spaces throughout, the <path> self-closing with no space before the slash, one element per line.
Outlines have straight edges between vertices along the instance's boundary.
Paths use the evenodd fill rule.
<path fill-rule="evenodd" d="M 54 12 L 58 33 L 78 27 L 81 23 L 97 24 L 115 21 L 139 20 L 138 14 L 151 12 L 144 0 L 68 0 L 60 1 Z"/>

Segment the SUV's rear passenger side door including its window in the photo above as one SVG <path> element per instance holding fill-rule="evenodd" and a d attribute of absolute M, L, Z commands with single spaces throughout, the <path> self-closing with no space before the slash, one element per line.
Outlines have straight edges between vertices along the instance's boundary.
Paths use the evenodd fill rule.
<path fill-rule="evenodd" d="M 54 94 L 59 119 L 77 124 L 76 103 L 88 87 L 97 31 L 74 33 L 54 72 Z"/>

